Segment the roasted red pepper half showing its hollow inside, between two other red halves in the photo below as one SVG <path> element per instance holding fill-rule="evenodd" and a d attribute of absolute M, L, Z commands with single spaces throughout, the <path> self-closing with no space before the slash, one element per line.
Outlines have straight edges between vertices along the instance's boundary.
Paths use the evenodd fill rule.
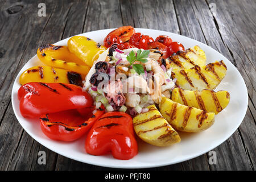
<path fill-rule="evenodd" d="M 77 109 L 42 115 L 41 129 L 53 140 L 71 142 L 79 139 L 104 114 L 104 109 L 95 109 L 95 107 L 86 107 L 82 111 L 84 112 L 82 115 Z"/>

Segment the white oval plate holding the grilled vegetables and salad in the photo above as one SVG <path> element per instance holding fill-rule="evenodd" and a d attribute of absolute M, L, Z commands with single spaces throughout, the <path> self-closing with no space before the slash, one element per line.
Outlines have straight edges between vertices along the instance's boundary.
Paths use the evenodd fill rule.
<path fill-rule="evenodd" d="M 86 32 L 80 35 L 87 36 L 96 42 L 103 44 L 105 36 L 112 30 L 113 29 L 98 30 Z M 51 140 L 42 133 L 39 119 L 23 118 L 19 111 L 17 92 L 20 88 L 20 74 L 30 67 L 43 65 L 35 55 L 20 70 L 14 81 L 11 93 L 13 110 L 23 129 L 40 144 L 57 154 L 80 162 L 113 168 L 150 168 L 180 163 L 203 155 L 228 139 L 243 121 L 248 105 L 247 89 L 240 72 L 238 72 L 228 59 L 213 48 L 210 48 L 201 42 L 165 31 L 149 30 L 144 28 L 135 28 L 135 30 L 136 32 L 142 32 L 144 35 L 150 35 L 154 39 L 159 35 L 168 35 L 173 41 L 181 42 L 185 49 L 198 45 L 205 51 L 207 63 L 212 63 L 216 60 L 224 60 L 224 63 L 228 67 L 228 72 L 215 90 L 227 90 L 230 93 L 230 102 L 220 114 L 216 115 L 215 122 L 212 127 L 201 133 L 180 133 L 181 142 L 170 147 L 155 147 L 138 139 L 139 153 L 130 160 L 117 160 L 114 159 L 111 154 L 104 156 L 86 154 L 84 148 L 86 136 L 76 140 L 75 142 L 59 142 Z M 61 40 L 60 42 L 55 43 L 55 45 L 65 46 L 67 45 L 68 39 L 69 38 Z"/>

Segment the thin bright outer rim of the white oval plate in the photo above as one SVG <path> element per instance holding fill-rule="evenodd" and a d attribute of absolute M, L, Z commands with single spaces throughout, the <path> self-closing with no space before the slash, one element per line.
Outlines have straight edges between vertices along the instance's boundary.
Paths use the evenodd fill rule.
<path fill-rule="evenodd" d="M 95 31 L 84 32 L 84 33 L 77 34 L 77 35 L 84 35 L 84 34 L 88 34 L 88 33 L 95 33 L 95 32 L 97 32 L 97 31 L 112 31 L 112 30 L 114 30 L 114 29 L 115 29 L 115 28 L 108 28 L 108 29 L 102 29 L 102 30 L 95 30 Z M 162 31 L 162 30 L 156 30 L 156 29 L 151 29 L 151 28 L 135 28 L 135 30 L 138 30 L 138 31 L 139 31 L 139 30 L 157 31 L 157 32 L 163 32 L 163 33 L 166 32 L 166 33 L 168 33 L 168 34 L 174 34 L 174 35 L 176 35 L 176 36 L 182 36 L 183 38 L 192 40 L 193 42 L 197 42 L 197 43 L 199 43 L 199 44 L 204 44 L 204 46 L 208 47 L 209 49 L 213 49 L 214 51 L 218 52 L 216 49 L 214 49 L 214 48 L 208 46 L 207 44 L 202 43 L 202 42 L 199 42 L 198 40 L 189 38 L 189 37 L 184 36 L 184 35 L 179 35 L 179 34 L 175 34 L 175 33 L 172 33 L 172 32 Z M 76 36 L 76 35 L 72 35 L 72 36 Z M 65 39 L 63 39 L 63 40 L 59 40 L 58 42 L 53 43 L 53 44 L 58 45 L 58 43 L 60 43 L 60 42 L 62 42 L 62 41 L 65 41 L 65 40 L 68 40 L 68 39 L 71 38 L 72 36 L 70 36 L 70 37 L 68 37 L 68 38 L 65 38 Z M 84 35 L 84 36 L 85 36 L 85 35 Z M 218 53 L 220 53 L 220 52 L 218 52 Z M 220 55 L 222 55 L 222 54 L 220 53 Z M 27 64 L 30 60 L 35 59 L 36 56 L 37 56 L 37 55 L 32 56 L 32 57 L 26 62 L 26 64 Z M 222 55 L 222 56 L 225 57 L 224 55 Z M 228 60 L 228 61 L 233 65 L 233 63 L 232 63 L 229 59 L 227 59 L 226 57 L 225 57 L 225 59 Z M 14 109 L 14 87 L 15 87 L 15 82 L 16 82 L 16 80 L 19 79 L 19 75 L 20 75 L 20 73 L 22 72 L 22 69 L 24 68 L 24 66 L 25 66 L 26 64 L 24 64 L 23 67 L 20 68 L 20 71 L 19 71 L 18 75 L 16 75 L 16 78 L 15 78 L 15 80 L 14 80 L 14 82 L 13 82 L 13 88 L 12 88 L 12 90 L 11 90 L 11 104 L 12 104 L 12 107 L 13 107 L 13 111 L 14 111 L 15 117 L 16 117 L 16 119 L 18 120 L 19 124 L 22 126 L 23 130 L 25 130 L 25 131 L 28 133 L 28 135 L 30 135 L 30 137 L 32 137 L 32 136 L 34 136 L 34 134 L 32 134 L 29 130 L 26 130 L 26 129 L 23 127 L 22 122 L 19 121 L 19 119 L 18 119 L 18 117 L 17 117 L 18 114 L 16 113 L 16 111 L 15 111 L 15 109 Z M 237 69 L 234 65 L 233 65 L 233 67 L 235 68 L 235 70 L 236 70 L 236 72 L 238 73 L 238 75 L 242 78 L 242 81 L 243 81 L 242 84 L 243 84 L 243 86 L 244 86 L 244 88 L 245 88 L 245 91 L 246 91 L 246 101 L 245 101 L 245 102 L 246 102 L 246 103 L 245 103 L 245 104 L 246 104 L 246 109 L 243 110 L 242 117 L 241 117 L 242 119 L 241 119 L 241 121 L 240 121 L 239 123 L 237 123 L 237 126 L 234 127 L 234 129 L 232 130 L 232 132 L 230 132 L 230 133 L 225 137 L 225 139 L 222 140 L 222 142 L 218 142 L 218 144 L 214 144 L 212 147 L 210 147 L 209 150 L 201 151 L 201 152 L 199 152 L 197 155 L 193 155 L 192 157 L 191 157 L 191 156 L 187 156 L 187 158 L 183 158 L 183 159 L 181 159 L 181 160 L 176 160 L 175 162 L 165 162 L 165 163 L 160 163 L 160 164 L 146 163 L 146 165 L 141 165 L 141 166 L 139 166 L 139 165 L 137 165 L 137 166 L 118 166 L 118 164 L 102 164 L 102 163 L 100 164 L 100 163 L 97 163 L 97 162 L 96 162 L 96 163 L 93 163 L 92 161 L 90 161 L 90 162 L 84 162 L 84 161 L 82 161 L 82 160 L 78 160 L 78 159 L 73 158 L 73 157 L 71 157 L 71 156 L 67 156 L 67 155 L 65 155 L 65 154 L 62 154 L 62 152 L 56 151 L 54 147 L 45 146 L 44 144 L 42 144 L 41 142 L 38 141 L 38 139 L 39 139 L 38 137 L 34 136 L 34 137 L 32 137 L 32 138 L 35 139 L 36 142 L 42 144 L 42 146 L 48 148 L 49 150 L 55 152 L 56 154 L 65 156 L 66 158 L 73 159 L 73 160 L 76 160 L 76 161 L 81 162 L 81 163 L 86 163 L 86 164 L 91 164 L 91 165 L 101 166 L 101 167 L 109 167 L 109 168 L 124 168 L 124 169 L 126 168 L 126 169 L 132 169 L 132 168 L 163 167 L 163 166 L 168 166 L 168 165 L 172 165 L 172 164 L 177 164 L 177 163 L 181 163 L 181 162 L 184 162 L 184 161 L 187 161 L 187 160 L 190 160 L 190 159 L 197 158 L 198 156 L 203 155 L 203 154 L 206 154 L 207 152 L 213 150 L 213 148 L 216 148 L 216 147 L 220 146 L 220 145 L 221 145 L 222 143 L 224 143 L 227 139 L 229 139 L 229 138 L 236 132 L 236 130 L 238 129 L 238 127 L 240 127 L 241 123 L 243 122 L 243 119 L 245 118 L 246 111 L 247 111 L 247 107 L 248 107 L 248 99 L 249 99 L 249 97 L 248 97 L 248 90 L 247 90 L 247 86 L 246 86 L 246 84 L 245 84 L 245 80 L 243 79 L 241 73 L 238 71 L 238 69 Z M 26 118 L 24 118 L 24 119 L 26 119 Z M 49 140 L 50 140 L 50 139 L 49 139 Z"/>

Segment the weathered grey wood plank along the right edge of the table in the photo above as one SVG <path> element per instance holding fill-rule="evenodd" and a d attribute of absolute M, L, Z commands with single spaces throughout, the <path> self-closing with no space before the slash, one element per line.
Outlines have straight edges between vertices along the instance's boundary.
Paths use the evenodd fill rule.
<path fill-rule="evenodd" d="M 255 1 L 207 1 L 215 3 L 217 7 L 216 15 L 213 16 L 217 23 L 221 39 L 228 48 L 227 51 L 233 57 L 233 61 L 240 71 L 249 94 L 249 110 L 238 131 L 241 134 L 243 146 L 249 156 L 251 166 L 255 169 L 255 39 L 256 24 L 253 17 L 256 16 Z M 236 7 L 236 11 L 232 11 Z M 246 10 L 245 10 L 246 9 Z M 243 16 L 241 16 L 241 14 Z M 225 53 L 223 53 L 226 55 Z M 231 57 L 230 57 L 231 59 Z"/>

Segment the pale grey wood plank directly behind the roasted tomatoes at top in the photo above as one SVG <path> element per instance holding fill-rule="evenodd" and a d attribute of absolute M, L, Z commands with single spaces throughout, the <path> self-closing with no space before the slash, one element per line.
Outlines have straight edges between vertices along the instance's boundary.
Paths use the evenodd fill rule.
<path fill-rule="evenodd" d="M 172 1 L 121 1 L 121 12 L 124 25 L 180 33 Z"/>

